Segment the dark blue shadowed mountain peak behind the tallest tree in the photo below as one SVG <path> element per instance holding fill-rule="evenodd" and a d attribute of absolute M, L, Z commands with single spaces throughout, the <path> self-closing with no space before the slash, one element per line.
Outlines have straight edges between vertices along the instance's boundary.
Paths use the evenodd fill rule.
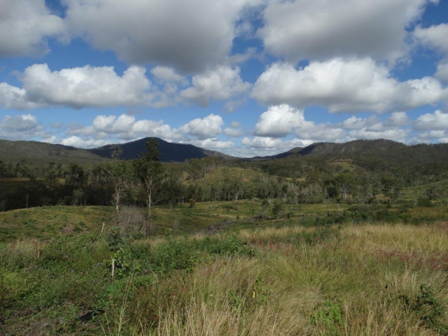
<path fill-rule="evenodd" d="M 146 152 L 146 141 L 150 138 L 139 139 L 131 142 L 106 145 L 98 148 L 88 149 L 89 152 L 100 155 L 102 157 L 110 158 L 112 151 L 121 148 L 123 150 L 121 158 L 130 160 L 139 157 L 140 153 Z M 235 157 L 200 148 L 194 145 L 185 143 L 173 143 L 162 140 L 160 138 L 154 138 L 158 144 L 158 150 L 161 154 L 160 161 L 162 162 L 184 162 L 187 159 L 201 159 L 207 156 L 221 157 L 224 159 L 235 159 Z"/>

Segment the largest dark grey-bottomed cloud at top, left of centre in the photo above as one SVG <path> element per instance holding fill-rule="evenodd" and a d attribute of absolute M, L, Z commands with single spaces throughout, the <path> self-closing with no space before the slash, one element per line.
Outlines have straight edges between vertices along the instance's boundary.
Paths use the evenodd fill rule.
<path fill-rule="evenodd" d="M 245 8 L 261 0 L 64 0 L 73 36 L 130 63 L 194 73 L 222 64 Z M 200 10 L 198 9 L 200 8 Z"/>

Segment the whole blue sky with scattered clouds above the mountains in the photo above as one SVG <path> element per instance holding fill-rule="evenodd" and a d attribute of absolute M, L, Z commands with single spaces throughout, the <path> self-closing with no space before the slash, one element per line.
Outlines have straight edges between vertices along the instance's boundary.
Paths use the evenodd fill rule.
<path fill-rule="evenodd" d="M 448 142 L 448 0 L 0 0 L 0 138 Z"/>

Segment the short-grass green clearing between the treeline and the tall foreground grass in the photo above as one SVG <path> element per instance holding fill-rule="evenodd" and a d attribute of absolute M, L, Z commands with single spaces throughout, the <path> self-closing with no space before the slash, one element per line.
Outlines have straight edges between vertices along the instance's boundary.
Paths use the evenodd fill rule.
<path fill-rule="evenodd" d="M 243 228 L 314 226 L 360 222 L 421 224 L 448 221 L 448 208 L 395 205 L 349 206 L 347 204 L 283 204 L 272 213 L 275 201 L 262 206 L 260 200 L 197 202 L 174 207 L 153 207 L 151 232 L 156 236 L 175 236 L 200 232 L 238 231 Z M 122 208 L 123 216 L 134 218 L 144 227 L 146 209 Z M 138 219 L 138 220 L 135 220 Z M 119 218 L 118 222 L 122 222 Z M 58 235 L 100 232 L 114 225 L 112 207 L 52 206 L 0 212 L 0 242 L 35 238 L 47 241 Z"/>

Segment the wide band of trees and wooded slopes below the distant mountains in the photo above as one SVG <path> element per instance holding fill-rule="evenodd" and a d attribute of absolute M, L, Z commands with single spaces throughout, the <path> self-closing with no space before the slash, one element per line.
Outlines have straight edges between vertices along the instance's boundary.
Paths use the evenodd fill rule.
<path fill-rule="evenodd" d="M 0 161 L 0 211 L 46 205 L 114 205 L 118 211 L 121 205 L 149 208 L 189 202 L 193 207 L 195 202 L 230 200 L 236 207 L 238 200 L 254 198 L 294 204 L 328 200 L 367 204 L 379 194 L 392 203 L 404 187 L 447 178 L 446 167 L 438 162 L 412 161 L 400 168 L 394 158 L 387 166 L 388 158 L 374 162 L 369 155 L 337 160 L 291 155 L 262 161 L 206 157 L 159 162 L 156 167 L 156 143 L 139 159 L 122 160 L 121 154 L 118 150 L 109 160 L 84 165 Z M 427 192 L 428 199 L 444 193 L 433 189 Z"/>

